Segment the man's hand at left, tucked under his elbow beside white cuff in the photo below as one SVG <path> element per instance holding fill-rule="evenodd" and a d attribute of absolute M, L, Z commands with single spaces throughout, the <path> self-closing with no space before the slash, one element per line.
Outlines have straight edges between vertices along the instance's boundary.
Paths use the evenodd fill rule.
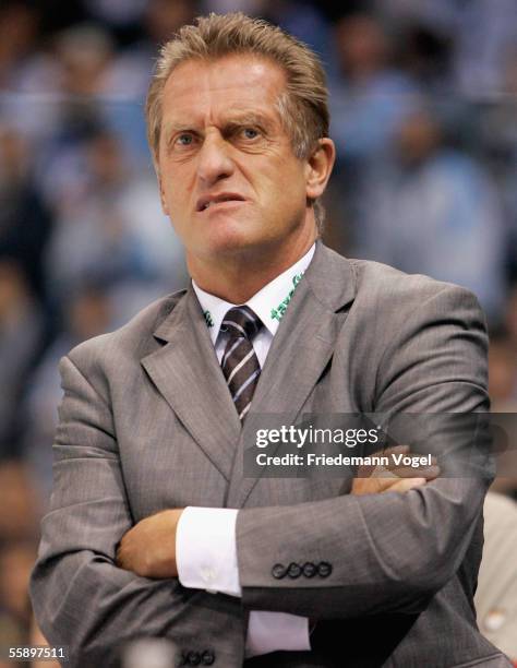
<path fill-rule="evenodd" d="M 177 577 L 176 529 L 182 512 L 161 511 L 135 524 L 119 544 L 117 565 L 143 577 Z"/>

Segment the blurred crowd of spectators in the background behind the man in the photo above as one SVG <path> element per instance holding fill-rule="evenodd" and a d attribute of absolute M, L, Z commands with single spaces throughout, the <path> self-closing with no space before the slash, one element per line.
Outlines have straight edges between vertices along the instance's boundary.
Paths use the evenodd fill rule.
<path fill-rule="evenodd" d="M 493 409 L 517 411 L 515 0 L 2 0 L 0 646 L 36 632 L 26 583 L 60 357 L 188 281 L 145 140 L 157 48 L 235 10 L 325 64 L 338 151 L 326 242 L 474 291 Z"/>

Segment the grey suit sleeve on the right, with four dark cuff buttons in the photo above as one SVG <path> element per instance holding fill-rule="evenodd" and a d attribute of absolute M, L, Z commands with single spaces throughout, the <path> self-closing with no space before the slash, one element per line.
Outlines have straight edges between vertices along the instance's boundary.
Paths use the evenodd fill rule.
<path fill-rule="evenodd" d="M 488 410 L 488 341 L 476 298 L 447 286 L 413 306 L 377 366 L 375 411 Z M 489 481 L 449 477 L 404 494 L 243 509 L 242 600 L 317 619 L 419 611 L 460 565 Z M 274 565 L 290 562 L 323 562 L 324 577 L 278 577 Z"/>

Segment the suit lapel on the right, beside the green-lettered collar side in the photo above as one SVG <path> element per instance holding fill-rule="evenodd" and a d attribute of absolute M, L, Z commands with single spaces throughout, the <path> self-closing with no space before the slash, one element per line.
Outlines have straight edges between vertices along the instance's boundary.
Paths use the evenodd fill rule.
<path fill-rule="evenodd" d="M 314 259 L 300 282 L 273 339 L 244 422 L 228 491 L 227 505 L 244 505 L 257 478 L 243 477 L 243 448 L 255 448 L 264 414 L 282 414 L 291 424 L 332 358 L 345 322 L 345 307 L 356 293 L 350 262 L 316 244 Z M 269 453 L 268 454 L 273 454 Z"/>

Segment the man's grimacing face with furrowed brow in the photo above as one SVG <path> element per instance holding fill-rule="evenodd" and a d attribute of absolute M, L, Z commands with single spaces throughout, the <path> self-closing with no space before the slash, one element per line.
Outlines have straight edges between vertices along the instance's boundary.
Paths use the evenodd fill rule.
<path fill-rule="evenodd" d="M 160 193 L 188 259 L 251 258 L 315 236 L 308 164 L 294 156 L 275 106 L 284 90 L 281 69 L 251 55 L 187 61 L 169 76 Z"/>

